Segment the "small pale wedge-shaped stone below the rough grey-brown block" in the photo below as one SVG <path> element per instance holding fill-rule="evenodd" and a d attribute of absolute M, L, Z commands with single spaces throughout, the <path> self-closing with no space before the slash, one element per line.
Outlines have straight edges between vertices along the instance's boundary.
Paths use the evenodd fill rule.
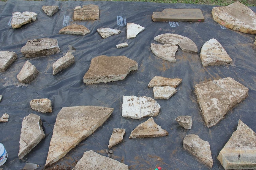
<path fill-rule="evenodd" d="M 34 65 L 32 65 L 29 61 L 26 61 L 17 75 L 17 79 L 20 83 L 29 83 L 34 80 L 37 76 L 37 69 Z"/>

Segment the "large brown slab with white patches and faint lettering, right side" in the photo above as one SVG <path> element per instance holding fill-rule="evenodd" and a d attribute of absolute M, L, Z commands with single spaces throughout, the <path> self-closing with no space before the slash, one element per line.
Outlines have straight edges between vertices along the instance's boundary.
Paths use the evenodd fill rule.
<path fill-rule="evenodd" d="M 207 127 L 217 124 L 237 103 L 248 95 L 249 89 L 233 78 L 195 85 L 195 94 Z"/>

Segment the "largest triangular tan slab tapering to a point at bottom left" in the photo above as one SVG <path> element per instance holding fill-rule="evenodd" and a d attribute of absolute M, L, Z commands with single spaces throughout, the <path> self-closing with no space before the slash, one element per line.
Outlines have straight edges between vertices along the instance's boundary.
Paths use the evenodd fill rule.
<path fill-rule="evenodd" d="M 57 162 L 91 135 L 113 112 L 100 106 L 63 107 L 56 117 L 45 166 Z"/>

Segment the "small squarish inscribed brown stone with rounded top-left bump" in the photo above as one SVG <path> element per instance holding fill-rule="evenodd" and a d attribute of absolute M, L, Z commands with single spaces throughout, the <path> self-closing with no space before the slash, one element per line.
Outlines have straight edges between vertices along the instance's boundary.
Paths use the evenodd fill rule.
<path fill-rule="evenodd" d="M 99 19 L 98 5 L 83 5 L 75 7 L 74 20 L 97 20 Z"/>

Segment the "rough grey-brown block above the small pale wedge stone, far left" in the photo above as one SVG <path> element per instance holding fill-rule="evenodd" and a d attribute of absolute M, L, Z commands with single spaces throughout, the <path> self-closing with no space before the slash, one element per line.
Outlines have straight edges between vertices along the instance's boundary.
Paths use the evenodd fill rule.
<path fill-rule="evenodd" d="M 61 52 L 58 41 L 51 38 L 39 38 L 29 40 L 25 46 L 21 48 L 21 53 L 26 58 L 47 56 Z"/>

